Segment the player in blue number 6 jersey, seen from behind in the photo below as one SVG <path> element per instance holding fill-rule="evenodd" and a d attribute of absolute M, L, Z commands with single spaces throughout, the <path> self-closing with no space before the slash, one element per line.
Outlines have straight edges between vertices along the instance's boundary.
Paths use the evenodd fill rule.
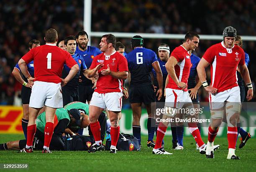
<path fill-rule="evenodd" d="M 141 145 L 141 105 L 144 103 L 148 112 L 148 147 L 154 147 L 153 137 L 155 133 L 156 119 L 154 112 L 151 112 L 151 107 L 156 105 L 154 87 L 151 81 L 152 66 L 156 71 L 156 79 L 159 84 L 159 89 L 156 95 L 158 100 L 162 97 L 163 75 L 156 53 L 152 50 L 143 47 L 143 38 L 139 35 L 131 39 L 132 51 L 126 55 L 128 68 L 131 72 L 131 82 L 129 90 L 129 102 L 133 111 L 133 135 L 138 139 Z"/>

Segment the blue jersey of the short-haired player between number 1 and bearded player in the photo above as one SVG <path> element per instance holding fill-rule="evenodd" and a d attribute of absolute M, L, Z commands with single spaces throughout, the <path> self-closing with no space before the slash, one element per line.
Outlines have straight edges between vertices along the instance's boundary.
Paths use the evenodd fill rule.
<path fill-rule="evenodd" d="M 81 55 L 79 54 L 74 54 L 71 55 L 73 57 L 73 59 L 77 62 L 78 66 L 79 66 L 79 71 L 77 72 L 77 74 L 72 78 L 72 80 L 70 80 L 67 83 L 67 87 L 72 87 L 72 88 L 78 88 L 78 80 L 79 80 L 79 75 L 80 75 L 80 70 L 86 70 L 87 67 L 84 63 L 84 59 Z M 62 70 L 62 78 L 67 77 L 67 75 L 69 74 L 70 68 L 64 64 L 63 70 Z M 82 72 L 81 72 L 82 74 Z M 83 75 L 83 74 L 82 74 Z"/>

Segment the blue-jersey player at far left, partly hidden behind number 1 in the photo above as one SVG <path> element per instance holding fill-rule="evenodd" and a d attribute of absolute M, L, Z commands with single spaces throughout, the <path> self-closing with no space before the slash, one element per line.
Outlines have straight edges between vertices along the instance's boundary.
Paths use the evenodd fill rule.
<path fill-rule="evenodd" d="M 34 47 L 40 46 L 39 40 L 31 40 L 29 43 L 29 50 L 31 50 Z M 30 73 L 31 77 L 34 77 L 34 61 L 31 61 L 27 65 L 28 72 Z M 22 108 L 23 108 L 23 117 L 21 120 L 21 126 L 24 133 L 25 138 L 27 139 L 27 127 L 28 127 L 28 105 L 29 105 L 29 99 L 31 95 L 31 85 L 28 83 L 28 80 L 26 77 L 23 76 L 23 74 L 20 72 L 20 67 L 18 63 L 15 65 L 13 69 L 13 76 L 15 79 L 22 84 L 21 88 L 21 101 L 22 101 Z"/>

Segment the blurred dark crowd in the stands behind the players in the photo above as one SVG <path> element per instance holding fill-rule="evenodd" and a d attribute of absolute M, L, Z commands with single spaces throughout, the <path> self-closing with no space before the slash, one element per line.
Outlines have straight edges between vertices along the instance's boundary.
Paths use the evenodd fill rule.
<path fill-rule="evenodd" d="M 28 51 L 32 39 L 44 42 L 45 31 L 52 27 L 59 40 L 83 29 L 83 0 L 1 0 L 0 3 L 0 105 L 20 104 L 20 88 L 12 70 Z M 196 31 L 199 34 L 221 35 L 232 25 L 238 35 L 256 35 L 256 2 L 254 0 L 92 0 L 92 31 L 179 33 Z M 117 38 L 126 52 L 131 51 L 131 39 Z M 99 47 L 100 38 L 92 37 L 92 46 Z M 174 49 L 182 40 L 145 39 L 144 47 L 157 52 L 161 43 Z M 194 52 L 202 57 L 210 45 L 220 41 L 200 40 Z M 249 71 L 256 81 L 255 41 L 245 41 L 249 54 Z M 209 75 L 209 72 L 208 72 Z M 200 90 L 201 100 L 207 94 Z M 254 101 L 256 99 L 254 98 Z"/>

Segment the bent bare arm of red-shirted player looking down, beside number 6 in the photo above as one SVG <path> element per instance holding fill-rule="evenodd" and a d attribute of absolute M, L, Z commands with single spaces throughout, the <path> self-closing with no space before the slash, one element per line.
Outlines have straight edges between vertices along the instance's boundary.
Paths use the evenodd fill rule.
<path fill-rule="evenodd" d="M 168 72 L 168 74 L 170 75 L 170 77 L 172 78 L 172 80 L 174 80 L 174 82 L 182 89 L 187 88 L 187 84 L 185 84 L 184 82 L 179 82 L 175 70 L 174 70 L 174 66 L 177 65 L 178 61 L 175 57 L 171 56 L 169 58 L 169 60 L 166 62 L 166 70 Z"/>

